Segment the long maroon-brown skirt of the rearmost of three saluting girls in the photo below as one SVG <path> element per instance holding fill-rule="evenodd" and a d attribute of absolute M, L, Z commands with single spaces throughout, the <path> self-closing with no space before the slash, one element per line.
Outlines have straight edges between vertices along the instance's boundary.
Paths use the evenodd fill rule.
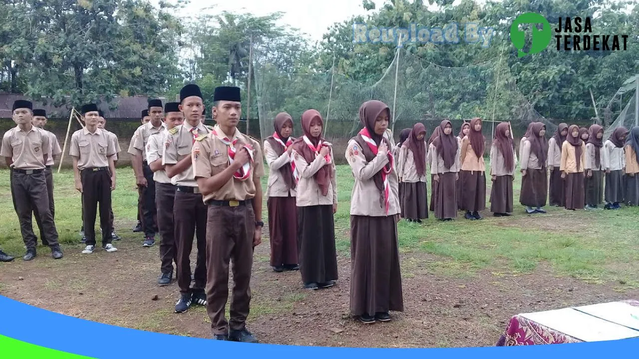
<path fill-rule="evenodd" d="M 295 197 L 268 197 L 271 266 L 297 264 L 297 207 Z"/>

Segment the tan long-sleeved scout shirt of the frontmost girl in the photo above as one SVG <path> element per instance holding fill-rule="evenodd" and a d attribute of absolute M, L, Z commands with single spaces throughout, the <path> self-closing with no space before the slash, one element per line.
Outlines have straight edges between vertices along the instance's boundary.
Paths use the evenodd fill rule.
<path fill-rule="evenodd" d="M 386 213 L 383 202 L 380 203 L 380 190 L 373 180 L 373 176 L 389 163 L 389 157 L 385 153 L 379 152 L 371 162 L 366 162 L 364 153 L 355 151 L 355 148 L 358 147 L 357 141 L 351 139 L 348 142 L 345 153 L 346 160 L 348 160 L 355 177 L 355 185 L 353 185 L 353 191 L 351 192 L 351 215 L 371 217 L 396 215 L 399 213 L 399 179 L 397 178 L 397 172 L 393 168 L 387 174 L 390 187 L 389 213 Z"/>

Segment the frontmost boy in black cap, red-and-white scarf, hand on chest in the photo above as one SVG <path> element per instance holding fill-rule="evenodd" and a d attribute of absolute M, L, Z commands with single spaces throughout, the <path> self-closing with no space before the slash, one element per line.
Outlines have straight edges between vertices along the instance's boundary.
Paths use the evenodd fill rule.
<path fill-rule="evenodd" d="M 206 312 L 213 338 L 258 342 L 247 330 L 253 248 L 261 243 L 264 164 L 259 142 L 237 129 L 242 115 L 240 89 L 219 87 L 213 96 L 211 134 L 193 146 L 192 161 L 208 204 L 206 227 Z M 224 316 L 228 298 L 229 260 L 233 259 L 231 317 Z"/>

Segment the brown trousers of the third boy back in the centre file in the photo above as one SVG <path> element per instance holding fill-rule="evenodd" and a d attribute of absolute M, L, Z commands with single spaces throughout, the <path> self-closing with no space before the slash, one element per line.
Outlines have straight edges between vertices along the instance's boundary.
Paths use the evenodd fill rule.
<path fill-rule="evenodd" d="M 160 267 L 162 273 L 173 272 L 173 261 L 178 264 L 178 248 L 175 243 L 173 202 L 176 187 L 171 183 L 155 183 L 155 206 L 157 206 L 158 229 L 160 230 Z"/>

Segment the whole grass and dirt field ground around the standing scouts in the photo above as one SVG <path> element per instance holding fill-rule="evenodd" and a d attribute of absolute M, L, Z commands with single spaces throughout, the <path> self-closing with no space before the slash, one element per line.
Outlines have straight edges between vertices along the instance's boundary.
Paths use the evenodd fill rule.
<path fill-rule="evenodd" d="M 113 197 L 116 231 L 123 236 L 115 243 L 119 251 L 96 251 L 89 257 L 80 254 L 81 206 L 79 193 L 73 188 L 73 174 L 54 174 L 56 225 L 65 252 L 65 259 L 60 261 L 53 261 L 50 250 L 43 247 L 38 247 L 35 261 L 24 263 L 20 258 L 24 245 L 8 178 L 8 171 L 1 170 L 0 247 L 17 259 L 0 264 L 1 294 L 104 323 L 208 336 L 204 309 L 196 307 L 185 315 L 173 314 L 176 284 L 155 286 L 159 271 L 157 246 L 141 248 L 141 234 L 131 231 L 137 191 L 130 168 L 118 169 Z M 638 293 L 639 208 L 573 212 L 547 207 L 546 215 L 527 215 L 518 204 L 517 178 L 512 217 L 494 218 L 487 210 L 481 221 L 458 217 L 453 222 L 439 222 L 429 213 L 431 218 L 422 225 L 400 222 L 406 312 L 397 314 L 399 320 L 384 325 L 383 330 L 381 326 L 362 328 L 347 319 L 349 201 L 353 184 L 350 167 L 337 167 L 337 183 L 338 286 L 308 293 L 300 288 L 298 273 L 270 271 L 266 229 L 266 240 L 256 248 L 249 325 L 265 342 L 329 346 L 493 345 L 507 319 L 523 310 L 626 299 Z M 488 188 L 487 199 L 489 193 Z M 263 218 L 267 218 L 266 206 Z M 148 299 L 153 293 L 160 295 L 159 300 Z M 103 300 L 118 305 L 120 310 L 107 314 L 86 307 Z M 142 305 L 135 304 L 141 302 Z M 309 320 L 320 325 L 319 329 L 307 330 Z M 468 326 L 481 334 L 458 337 L 460 328 Z M 334 328 L 343 332 L 335 333 Z M 408 337 L 396 337 L 409 329 Z"/>

